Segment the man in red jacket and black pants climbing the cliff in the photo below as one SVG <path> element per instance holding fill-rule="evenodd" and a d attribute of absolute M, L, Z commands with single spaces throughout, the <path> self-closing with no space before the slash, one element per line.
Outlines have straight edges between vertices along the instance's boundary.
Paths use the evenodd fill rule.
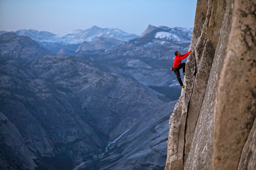
<path fill-rule="evenodd" d="M 181 61 L 183 59 L 187 58 L 187 56 L 190 55 L 190 53 L 192 53 L 192 51 L 189 51 L 188 53 L 186 53 L 184 55 L 180 55 L 179 51 L 175 51 L 175 59 L 173 61 L 173 71 L 174 71 L 175 75 L 177 76 L 178 82 L 182 88 L 185 88 L 185 86 L 183 85 L 183 83 L 180 79 L 180 69 L 182 68 L 183 75 L 185 75 L 186 64 L 181 63 Z"/>

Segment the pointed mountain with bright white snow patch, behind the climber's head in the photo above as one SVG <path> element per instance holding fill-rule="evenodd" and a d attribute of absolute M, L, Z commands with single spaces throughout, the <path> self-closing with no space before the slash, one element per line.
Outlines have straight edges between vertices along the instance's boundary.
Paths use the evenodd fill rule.
<path fill-rule="evenodd" d="M 91 59 L 105 60 L 107 58 L 120 58 L 121 56 L 157 60 L 174 59 L 175 51 L 187 51 L 191 38 L 192 28 L 168 28 L 166 26 L 149 25 L 140 37 L 91 56 Z"/>

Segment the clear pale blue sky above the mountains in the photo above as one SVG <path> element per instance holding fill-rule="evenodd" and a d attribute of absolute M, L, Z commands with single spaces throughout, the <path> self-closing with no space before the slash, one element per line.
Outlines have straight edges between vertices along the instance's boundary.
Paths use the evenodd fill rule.
<path fill-rule="evenodd" d="M 197 0 L 0 0 L 0 30 L 60 34 L 92 26 L 140 35 L 153 26 L 192 28 Z"/>

